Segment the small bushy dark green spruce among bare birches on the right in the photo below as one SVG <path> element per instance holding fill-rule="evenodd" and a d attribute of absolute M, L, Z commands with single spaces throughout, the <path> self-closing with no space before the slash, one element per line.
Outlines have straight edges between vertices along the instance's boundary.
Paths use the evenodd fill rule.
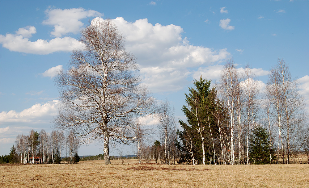
<path fill-rule="evenodd" d="M 270 164 L 269 150 L 274 158 L 274 148 L 270 148 L 269 134 L 263 127 L 255 127 L 249 138 L 249 159 L 252 164 L 264 165 Z"/>

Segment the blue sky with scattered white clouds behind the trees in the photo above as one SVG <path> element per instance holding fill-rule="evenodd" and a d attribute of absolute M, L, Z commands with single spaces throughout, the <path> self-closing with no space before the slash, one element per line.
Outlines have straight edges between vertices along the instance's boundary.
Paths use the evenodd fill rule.
<path fill-rule="evenodd" d="M 0 155 L 18 134 L 53 130 L 60 103 L 53 78 L 96 17 L 112 19 L 126 36 L 143 83 L 158 101 L 169 101 L 176 119 L 185 120 L 184 93 L 194 79 L 214 86 L 230 58 L 238 69 L 254 69 L 261 92 L 284 58 L 308 103 L 308 1 L 1 1 L 0 9 Z M 97 143 L 78 151 L 99 153 Z"/>

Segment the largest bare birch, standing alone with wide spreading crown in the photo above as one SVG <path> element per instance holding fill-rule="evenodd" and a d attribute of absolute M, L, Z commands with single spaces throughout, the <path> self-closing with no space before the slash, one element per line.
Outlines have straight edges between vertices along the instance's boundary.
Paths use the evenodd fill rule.
<path fill-rule="evenodd" d="M 73 130 L 88 141 L 103 141 L 105 164 L 109 140 L 134 140 L 134 118 L 155 112 L 155 99 L 137 75 L 125 38 L 109 19 L 94 19 L 81 31 L 84 50 L 74 50 L 69 67 L 56 78 L 61 107 L 55 126 Z"/>

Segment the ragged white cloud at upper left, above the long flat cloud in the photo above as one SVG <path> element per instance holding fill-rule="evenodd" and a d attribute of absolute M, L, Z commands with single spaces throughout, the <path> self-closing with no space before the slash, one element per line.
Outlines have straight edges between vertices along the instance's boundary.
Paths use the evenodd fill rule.
<path fill-rule="evenodd" d="M 53 26 L 54 31 L 51 34 L 56 37 L 61 37 L 70 32 L 76 34 L 84 25 L 80 21 L 81 19 L 103 15 L 95 10 L 85 10 L 83 8 L 47 9 L 45 14 L 48 19 L 44 20 L 43 24 Z"/>

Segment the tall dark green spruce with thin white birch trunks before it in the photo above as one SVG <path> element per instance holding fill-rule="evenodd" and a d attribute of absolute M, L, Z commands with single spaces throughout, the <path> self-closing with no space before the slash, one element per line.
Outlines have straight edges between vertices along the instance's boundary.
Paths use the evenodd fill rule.
<path fill-rule="evenodd" d="M 188 88 L 189 92 L 185 95 L 185 101 L 187 106 L 182 106 L 182 111 L 187 117 L 188 123 L 184 123 L 179 120 L 179 124 L 182 127 L 182 131 L 177 132 L 180 141 L 175 143 L 177 148 L 182 151 L 183 156 L 181 156 L 180 163 L 183 160 L 187 163 L 191 163 L 190 150 L 193 152 L 195 160 L 198 164 L 202 163 L 202 139 L 200 132 L 198 131 L 198 122 L 204 126 L 204 138 L 205 138 L 205 158 L 209 158 L 212 155 L 212 136 L 218 135 L 218 123 L 216 119 L 216 90 L 215 88 L 210 89 L 211 81 L 202 79 L 195 80 L 193 82 L 195 88 Z M 223 112 L 223 110 L 220 113 Z M 210 125 L 210 127 L 209 127 Z M 211 133 L 210 133 L 211 130 Z M 212 136 L 211 136 L 212 135 Z M 190 147 L 188 147 L 190 146 Z M 205 161 L 207 163 L 207 161 Z"/>

